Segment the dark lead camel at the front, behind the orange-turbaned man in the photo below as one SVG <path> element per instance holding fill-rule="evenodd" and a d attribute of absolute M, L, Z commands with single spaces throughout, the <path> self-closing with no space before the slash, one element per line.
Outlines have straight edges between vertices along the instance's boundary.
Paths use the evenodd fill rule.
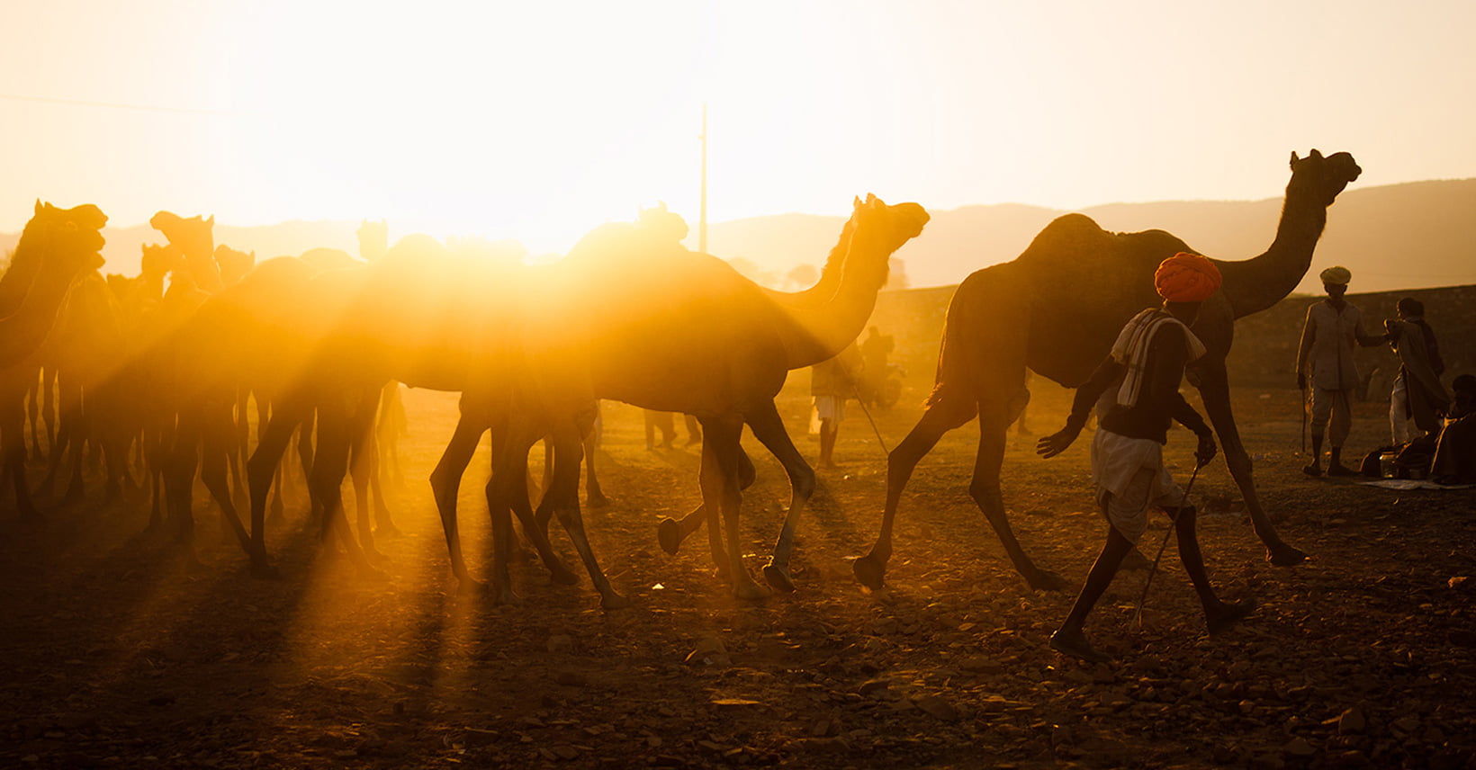
<path fill-rule="evenodd" d="M 1188 372 L 1255 533 L 1266 546 L 1266 559 L 1275 565 L 1296 565 L 1306 555 L 1281 540 L 1256 497 L 1250 456 L 1231 413 L 1225 355 L 1235 319 L 1274 305 L 1302 280 L 1327 224 L 1327 207 L 1361 173 L 1346 152 L 1327 158 L 1315 149 L 1306 158 L 1293 152 L 1290 165 L 1292 181 L 1271 246 L 1244 261 L 1216 260 L 1224 285 L 1201 305 L 1193 327 L 1209 354 Z M 1015 260 L 964 279 L 948 308 L 937 385 L 927 410 L 887 457 L 881 533 L 871 552 L 853 563 L 862 586 L 884 586 L 893 522 L 912 469 L 943 434 L 977 415 L 980 440 L 970 494 L 1032 589 L 1066 587 L 1060 575 L 1030 561 L 1005 518 L 999 491 L 1005 429 L 1029 401 L 1026 370 L 1069 388 L 1085 382 L 1123 323 L 1159 304 L 1153 271 L 1181 251 L 1197 254 L 1163 230 L 1107 233 L 1082 214 L 1067 214 L 1048 224 Z"/>

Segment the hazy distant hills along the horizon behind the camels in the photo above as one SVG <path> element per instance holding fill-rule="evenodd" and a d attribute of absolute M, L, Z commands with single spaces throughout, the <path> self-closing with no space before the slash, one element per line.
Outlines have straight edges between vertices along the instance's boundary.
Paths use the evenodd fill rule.
<path fill-rule="evenodd" d="M 896 202 L 896 201 L 893 201 Z M 925 201 L 922 202 L 925 205 Z M 1376 292 L 1476 283 L 1476 178 L 1411 181 L 1345 190 L 1328 209 L 1327 232 L 1312 270 L 1297 286 L 1317 294 L 1317 273 L 1331 264 L 1353 271 L 1353 291 Z M 1082 209 L 1107 230 L 1160 229 L 1224 260 L 1265 251 L 1281 214 L 1281 198 L 1263 201 L 1166 201 L 1108 204 Z M 922 236 L 897 252 L 914 288 L 949 286 L 968 273 L 1013 260 L 1051 220 L 1066 211 L 1020 204 L 931 211 Z M 393 226 L 394 223 L 391 223 Z M 695 230 L 695 223 L 694 230 Z M 778 214 L 713 223 L 708 251 L 747 260 L 760 280 L 782 286 L 799 264 L 819 267 L 840 236 L 843 220 Z M 215 226 L 215 242 L 255 251 L 258 258 L 301 254 L 316 246 L 357 252 L 357 221 L 289 221 L 264 227 Z M 137 274 L 140 243 L 162 242 L 148 226 L 108 229 L 108 271 Z M 18 233 L 0 235 L 0 249 Z M 695 235 L 689 239 L 695 246 Z"/>

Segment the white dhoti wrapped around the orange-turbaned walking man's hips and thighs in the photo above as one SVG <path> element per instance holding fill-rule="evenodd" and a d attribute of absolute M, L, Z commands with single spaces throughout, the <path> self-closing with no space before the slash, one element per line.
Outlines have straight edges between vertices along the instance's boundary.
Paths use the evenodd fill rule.
<path fill-rule="evenodd" d="M 1163 468 L 1163 444 L 1097 429 L 1092 440 L 1092 484 L 1097 504 L 1128 541 L 1148 530 L 1148 507 L 1178 507 L 1184 490 Z"/>

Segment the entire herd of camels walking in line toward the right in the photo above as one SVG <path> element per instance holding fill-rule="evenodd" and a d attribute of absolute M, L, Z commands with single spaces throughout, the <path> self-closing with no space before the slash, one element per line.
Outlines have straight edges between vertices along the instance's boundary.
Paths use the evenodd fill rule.
<path fill-rule="evenodd" d="M 1306 273 L 1327 207 L 1358 174 L 1348 153 L 1293 153 L 1275 240 L 1259 257 L 1218 263 L 1224 288 L 1194 326 L 1212 354 L 1190 381 L 1275 563 L 1297 563 L 1305 555 L 1277 535 L 1256 500 L 1230 410 L 1225 354 L 1234 319 L 1269 307 Z M 773 400 L 790 370 L 831 358 L 855 341 L 892 254 L 922 232 L 928 214 L 917 204 L 856 199 L 819 282 L 801 292 L 760 286 L 723 260 L 688 251 L 680 245 L 685 226 L 672 220 L 663 212 L 602 226 L 545 266 L 489 260 L 428 236 L 391 246 L 382 223 L 360 229 L 363 258 L 311 249 L 257 261 L 217 246 L 213 217 L 161 211 L 151 224 L 167 243 L 143 246 L 140 274 L 103 277 L 102 211 L 37 202 L 0 276 L 6 500 L 22 518 L 38 516 L 25 466 L 28 453 L 40 456 L 46 435 L 43 494 L 65 479 L 63 494 L 78 499 L 84 460 L 100 453 L 103 494 L 111 500 L 124 490 L 146 491 L 149 531 L 190 553 L 199 478 L 252 572 L 270 575 L 269 515 L 280 512 L 283 487 L 294 478 L 283 465 L 301 463 L 323 535 L 372 572 L 375 533 L 394 527 L 378 488 L 381 471 L 390 471 L 378 468 L 379 457 L 394 453 L 376 444 L 397 435 L 376 426 L 403 420 L 397 384 L 455 391 L 461 416 L 430 481 L 456 578 L 468 589 L 481 586 L 462 558 L 456 500 L 463 471 L 490 431 L 493 599 L 517 599 L 508 575 L 512 516 L 554 578 L 573 580 L 548 543 L 548 524 L 558 518 L 601 605 L 617 608 L 627 600 L 590 550 L 579 502 L 583 443 L 598 400 L 610 398 L 701 422 L 703 504 L 680 522 L 663 524 L 663 546 L 675 550 L 706 522 L 713 559 L 735 596 L 793 590 L 790 556 L 815 474 Z M 1116 329 L 1154 304 L 1153 270 L 1178 251 L 1194 249 L 1160 230 L 1107 233 L 1086 217 L 1066 215 L 1018 258 L 980 270 L 958 288 L 937 386 L 889 457 L 881 535 L 855 562 L 862 584 L 883 584 L 902 490 L 918 460 L 945 432 L 977 416 L 971 496 L 1032 586 L 1064 586 L 1030 561 L 1005 519 L 1005 428 L 1029 400 L 1026 370 L 1067 386 L 1082 382 Z M 744 426 L 784 466 L 793 490 L 762 583 L 744 566 L 738 546 L 741 493 L 753 481 L 753 465 L 739 448 Z M 551 447 L 551 481 L 534 509 L 527 457 L 540 440 Z M 342 510 L 345 476 L 356 485 L 354 528 Z M 587 482 L 593 503 L 602 497 L 593 469 Z"/>

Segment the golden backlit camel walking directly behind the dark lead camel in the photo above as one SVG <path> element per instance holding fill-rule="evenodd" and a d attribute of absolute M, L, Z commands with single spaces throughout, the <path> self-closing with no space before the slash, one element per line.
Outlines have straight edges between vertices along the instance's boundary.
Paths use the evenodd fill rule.
<path fill-rule="evenodd" d="M 641 254 L 639 242 L 623 243 L 618 230 L 613 237 L 596 232 L 582 242 L 589 248 L 576 246 L 554 266 L 556 273 L 542 291 L 520 286 L 511 298 L 524 304 L 503 308 L 515 319 L 518 335 L 505 338 L 500 355 L 489 360 L 486 373 L 493 382 L 466 391 L 463 416 L 477 412 L 466 409 L 468 400 L 475 404 L 483 398 L 492 409 L 478 404 L 481 413 L 500 407 L 512 419 L 549 415 L 554 422 L 543 428 L 568 447 L 579 432 L 580 416 L 589 413 L 596 398 L 695 415 L 703 425 L 701 487 L 713 550 L 723 550 L 723 528 L 717 524 L 722 512 L 728 534 L 726 575 L 734 594 L 763 599 L 772 592 L 744 568 L 739 544 L 738 441 L 747 423 L 790 476 L 790 507 L 763 575 L 773 589 L 793 590 L 788 559 L 799 515 L 815 488 L 815 472 L 790 440 L 773 398 L 790 369 L 824 361 L 855 341 L 886 283 L 890 255 L 921 233 L 927 220 L 917 204 L 889 207 L 875 196 L 858 199 L 844 270 L 828 283 L 834 291 L 822 302 L 765 289 L 711 255 L 685 249 Z M 610 251 L 623 254 L 611 258 Z M 521 440 L 527 441 L 533 432 L 523 431 Z M 437 504 L 455 502 L 471 457 L 466 441 L 474 448 L 478 435 L 458 428 L 432 474 Z M 511 533 L 506 512 L 520 454 L 518 445 L 496 454 L 489 484 L 497 538 L 496 600 L 517 600 L 506 574 Z M 574 474 L 559 474 L 555 468 L 548 494 L 555 504 L 573 506 L 570 518 L 577 518 L 570 479 L 577 484 Z M 441 519 L 455 561 L 459 547 L 455 510 L 443 507 Z"/>

